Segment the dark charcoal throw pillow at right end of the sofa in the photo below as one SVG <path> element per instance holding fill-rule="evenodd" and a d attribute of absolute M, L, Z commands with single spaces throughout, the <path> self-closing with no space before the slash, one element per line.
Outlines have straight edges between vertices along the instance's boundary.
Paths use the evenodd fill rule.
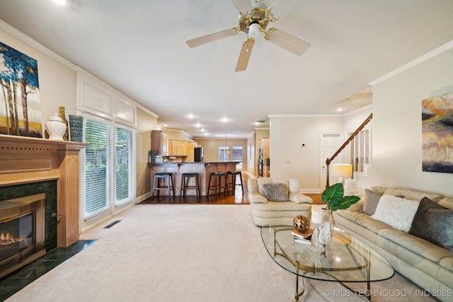
<path fill-rule="evenodd" d="M 409 233 L 453 251 L 453 210 L 423 197 Z"/>

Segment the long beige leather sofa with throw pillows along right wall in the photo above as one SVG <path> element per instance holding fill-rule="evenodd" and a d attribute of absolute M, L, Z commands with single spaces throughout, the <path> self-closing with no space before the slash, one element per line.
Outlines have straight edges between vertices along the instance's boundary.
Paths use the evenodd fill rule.
<path fill-rule="evenodd" d="M 428 200 L 425 197 L 428 197 Z M 371 212 L 369 209 L 372 199 L 377 200 L 377 207 L 383 199 L 386 202 L 389 200 L 396 202 L 393 204 L 396 207 L 387 207 L 389 209 L 386 210 L 384 204 L 381 204 L 379 213 L 377 213 L 378 209 L 375 209 L 373 214 L 372 209 Z M 386 216 L 394 215 L 396 224 L 401 223 L 403 221 L 401 216 L 406 213 L 397 214 L 394 211 L 398 211 L 396 208 L 400 207 L 397 203 L 398 200 L 406 199 L 418 202 L 415 205 L 415 214 L 408 232 L 400 231 L 397 229 L 398 226 L 393 227 L 395 223 L 392 221 L 386 222 L 393 226 L 382 222 L 389 219 Z M 435 209 L 438 205 L 446 209 Z M 413 211 L 409 208 L 403 207 L 403 211 Z M 422 289 L 430 291 L 432 296 L 436 296 L 441 301 L 453 301 L 453 252 L 451 248 L 453 211 L 450 209 L 453 209 L 452 197 L 394 187 L 371 187 L 369 190 L 365 190 L 365 194 L 357 204 L 353 204 L 349 209 L 334 212 L 334 219 L 337 227 L 360 238 L 379 252 L 397 272 L 418 284 Z M 372 215 L 370 216 L 370 214 Z M 384 218 L 382 214 L 384 214 Z M 439 216 L 436 216 L 437 214 Z M 430 218 L 425 219 L 425 216 L 428 217 L 428 215 Z M 437 219 L 437 217 L 440 218 Z M 417 228 L 422 230 L 422 234 L 419 236 L 417 236 L 419 234 Z M 440 233 L 443 232 L 447 236 L 443 237 L 443 241 L 437 241 L 437 234 L 432 237 L 425 236 L 423 232 L 428 232 L 430 229 L 434 234 L 437 232 L 436 230 L 440 230 Z M 420 238 L 420 236 L 426 239 Z M 445 238 L 447 239 L 445 240 Z M 445 242 L 447 245 L 442 244 Z"/>

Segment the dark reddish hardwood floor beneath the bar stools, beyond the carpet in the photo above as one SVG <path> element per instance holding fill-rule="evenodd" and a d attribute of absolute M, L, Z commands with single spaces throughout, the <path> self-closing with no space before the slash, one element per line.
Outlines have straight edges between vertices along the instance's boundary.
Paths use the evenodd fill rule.
<path fill-rule="evenodd" d="M 243 192 L 240 185 L 236 185 L 235 194 L 229 191 L 229 194 L 226 195 L 221 193 L 219 197 L 216 197 L 214 194 L 209 196 L 155 196 L 154 198 L 147 198 L 140 204 L 250 204 L 248 201 L 248 190 L 247 190 L 247 173 L 242 174 L 243 181 Z M 239 180 L 238 180 L 239 182 Z M 321 194 L 305 194 L 306 196 L 313 199 L 314 204 L 322 204 Z"/>

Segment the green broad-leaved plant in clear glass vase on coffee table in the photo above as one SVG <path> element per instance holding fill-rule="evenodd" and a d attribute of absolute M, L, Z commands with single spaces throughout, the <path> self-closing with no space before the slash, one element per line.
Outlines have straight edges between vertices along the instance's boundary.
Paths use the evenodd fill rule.
<path fill-rule="evenodd" d="M 321 200 L 326 204 L 326 207 L 323 208 L 323 223 L 319 231 L 319 242 L 322 244 L 328 244 L 332 239 L 332 211 L 348 209 L 348 207 L 360 200 L 360 197 L 358 196 L 345 196 L 344 194 L 345 190 L 343 188 L 343 183 L 341 182 L 327 187 L 321 194 Z"/>

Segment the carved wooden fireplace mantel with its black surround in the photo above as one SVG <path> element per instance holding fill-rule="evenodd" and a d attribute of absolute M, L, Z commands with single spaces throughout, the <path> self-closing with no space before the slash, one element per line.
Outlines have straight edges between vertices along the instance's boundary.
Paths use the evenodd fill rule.
<path fill-rule="evenodd" d="M 47 251 L 79 240 L 79 153 L 85 146 L 76 141 L 0 134 L 0 200 L 23 198 L 24 190 L 29 191 L 27 195 L 45 193 L 46 201 L 42 204 L 45 247 L 42 249 Z M 42 183 L 46 184 L 45 189 L 28 188 L 28 185 Z M 21 194 L 2 196 L 4 191 L 16 186 L 21 187 L 18 190 Z"/>

